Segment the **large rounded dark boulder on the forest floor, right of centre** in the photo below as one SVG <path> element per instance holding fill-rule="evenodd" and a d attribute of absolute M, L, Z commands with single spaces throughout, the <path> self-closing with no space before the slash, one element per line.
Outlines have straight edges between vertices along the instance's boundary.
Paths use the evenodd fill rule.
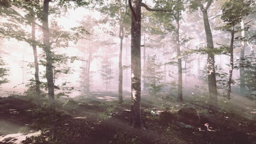
<path fill-rule="evenodd" d="M 177 121 L 184 124 L 196 125 L 200 123 L 200 116 L 193 106 L 183 106 L 178 111 Z"/>

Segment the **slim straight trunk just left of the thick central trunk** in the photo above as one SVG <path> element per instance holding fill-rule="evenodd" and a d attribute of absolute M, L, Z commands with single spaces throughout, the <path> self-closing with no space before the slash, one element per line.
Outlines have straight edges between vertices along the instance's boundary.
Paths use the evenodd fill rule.
<path fill-rule="evenodd" d="M 123 19 L 122 13 L 121 13 L 121 8 L 120 8 L 120 19 Z M 119 21 L 119 38 L 120 38 L 120 49 L 119 49 L 119 77 L 118 77 L 118 99 L 119 103 L 123 103 L 123 64 L 122 64 L 122 59 L 123 59 L 123 39 L 124 39 L 124 27 L 123 23 L 121 20 Z"/>

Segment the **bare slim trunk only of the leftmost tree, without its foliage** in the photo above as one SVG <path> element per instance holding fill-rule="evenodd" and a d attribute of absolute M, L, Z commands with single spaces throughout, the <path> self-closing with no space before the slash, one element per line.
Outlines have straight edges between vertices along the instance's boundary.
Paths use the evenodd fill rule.
<path fill-rule="evenodd" d="M 31 35 L 32 35 L 32 48 L 33 48 L 33 54 L 34 54 L 34 80 L 36 81 L 36 103 L 37 105 L 40 105 L 40 80 L 39 80 L 39 65 L 38 65 L 38 56 L 37 56 L 37 45 L 36 45 L 36 25 L 35 25 L 35 17 L 33 15 L 32 17 L 32 29 L 31 29 Z"/>

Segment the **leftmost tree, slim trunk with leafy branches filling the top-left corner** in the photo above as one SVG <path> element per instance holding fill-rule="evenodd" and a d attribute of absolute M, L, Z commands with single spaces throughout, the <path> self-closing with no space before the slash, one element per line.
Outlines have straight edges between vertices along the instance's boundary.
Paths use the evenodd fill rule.
<path fill-rule="evenodd" d="M 40 105 L 40 80 L 39 80 L 39 67 L 38 67 L 38 56 L 37 56 L 37 41 L 36 41 L 36 20 L 40 17 L 42 10 L 38 1 L 22 1 L 15 3 L 13 1 L 8 2 L 9 5 L 15 5 L 25 11 L 25 16 L 21 16 L 16 10 L 11 7 L 4 7 L 2 15 L 4 15 L 9 22 L 2 23 L 0 33 L 5 38 L 15 38 L 19 41 L 26 41 L 32 46 L 34 55 L 34 80 L 35 85 L 32 87 L 36 91 L 36 103 Z M 12 14 L 13 15 L 10 15 Z M 18 25 L 19 23 L 19 25 Z M 31 33 L 26 32 L 20 28 L 20 25 L 31 25 Z"/>

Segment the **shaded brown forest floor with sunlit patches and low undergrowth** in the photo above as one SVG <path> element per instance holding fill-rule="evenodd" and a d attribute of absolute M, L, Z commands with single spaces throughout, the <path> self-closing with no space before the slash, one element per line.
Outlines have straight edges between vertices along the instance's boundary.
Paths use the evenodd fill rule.
<path fill-rule="evenodd" d="M 129 124 L 130 94 L 124 96 L 124 103 L 118 104 L 117 93 L 95 92 L 90 98 L 74 98 L 78 107 L 70 110 L 63 110 L 62 105 L 71 98 L 59 99 L 53 143 L 256 143 L 255 101 L 238 96 L 230 101 L 220 98 L 219 112 L 212 113 L 205 97 L 187 97 L 183 103 L 156 99 L 153 103 L 142 95 L 146 130 L 136 130 Z M 177 122 L 177 111 L 185 104 L 199 111 L 201 123 L 197 127 L 185 128 Z M 154 108 L 158 108 L 158 115 L 152 113 Z M 32 135 L 37 138 L 23 143 L 51 143 L 45 139 L 49 130 L 42 129 L 48 124 L 45 111 L 34 111 L 25 95 L 0 98 L 0 143 L 21 143 Z"/>

